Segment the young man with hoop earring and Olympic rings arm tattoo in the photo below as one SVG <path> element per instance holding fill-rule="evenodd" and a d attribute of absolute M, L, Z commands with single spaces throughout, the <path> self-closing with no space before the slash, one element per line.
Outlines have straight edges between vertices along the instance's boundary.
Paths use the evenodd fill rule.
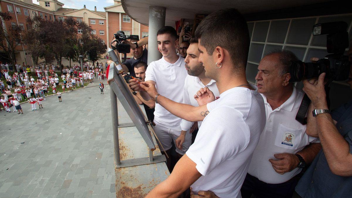
<path fill-rule="evenodd" d="M 145 89 L 172 114 L 203 121 L 195 142 L 171 175 L 147 197 L 177 197 L 189 186 L 194 194 L 209 190 L 218 197 L 240 197 L 252 153 L 265 126 L 263 98 L 246 79 L 250 39 L 244 17 L 233 8 L 218 10 L 201 21 L 195 36 L 199 38 L 199 61 L 205 76 L 216 81 L 218 100 L 208 88 L 201 88 L 195 96 L 200 106 L 194 107 L 163 97 L 150 82 L 130 83 Z"/>

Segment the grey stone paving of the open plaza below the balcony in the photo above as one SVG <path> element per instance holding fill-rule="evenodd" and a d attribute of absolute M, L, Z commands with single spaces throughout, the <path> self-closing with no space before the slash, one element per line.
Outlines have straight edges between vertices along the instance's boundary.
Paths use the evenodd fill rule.
<path fill-rule="evenodd" d="M 109 86 L 104 92 L 87 87 L 61 103 L 46 97 L 44 109 L 0 112 L 0 197 L 116 197 Z"/>

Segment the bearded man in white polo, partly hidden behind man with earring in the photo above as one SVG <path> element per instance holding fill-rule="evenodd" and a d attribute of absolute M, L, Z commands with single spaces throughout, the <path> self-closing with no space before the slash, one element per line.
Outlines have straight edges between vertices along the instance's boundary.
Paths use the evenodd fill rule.
<path fill-rule="evenodd" d="M 194 99 L 194 94 L 199 91 L 200 88 L 208 87 L 213 93 L 215 98 L 219 98 L 219 90 L 216 87 L 215 80 L 207 78 L 205 76 L 205 70 L 203 63 L 198 62 L 200 52 L 198 50 L 198 39 L 192 37 L 189 40 L 190 44 L 187 49 L 187 56 L 184 59 L 186 62 L 185 67 L 187 69 L 187 77 L 184 81 L 183 87 L 183 104 L 189 104 L 192 106 L 199 106 L 197 100 Z M 194 142 L 197 132 L 192 130 L 194 123 L 197 124 L 198 129 L 200 128 L 202 122 L 189 122 L 185 119 L 181 121 L 181 135 L 176 139 L 176 147 L 182 148 L 183 141 L 186 138 L 187 131 L 192 133 L 192 142 Z"/>

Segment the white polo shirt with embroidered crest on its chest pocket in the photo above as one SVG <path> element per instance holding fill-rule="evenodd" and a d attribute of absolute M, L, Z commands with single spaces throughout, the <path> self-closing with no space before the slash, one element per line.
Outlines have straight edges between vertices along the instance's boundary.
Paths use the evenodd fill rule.
<path fill-rule="evenodd" d="M 274 154 L 296 154 L 309 143 L 320 141 L 319 138 L 308 136 L 306 134 L 307 125 L 302 125 L 296 120 L 303 92 L 294 87 L 290 98 L 274 110 L 271 109 L 265 95 L 261 95 L 265 103 L 266 125 L 258 146 L 254 150 L 248 173 L 260 181 L 280 184 L 300 173 L 301 168 L 295 168 L 291 172 L 281 175 L 275 172 L 268 160 L 277 160 Z"/>

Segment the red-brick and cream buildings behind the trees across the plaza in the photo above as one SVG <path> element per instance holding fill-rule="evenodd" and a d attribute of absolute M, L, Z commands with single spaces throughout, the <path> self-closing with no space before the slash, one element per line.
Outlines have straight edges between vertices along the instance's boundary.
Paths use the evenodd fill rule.
<path fill-rule="evenodd" d="M 77 21 L 84 21 L 92 27 L 92 34 L 106 43 L 107 48 L 114 33 L 119 30 L 124 31 L 126 35 L 138 35 L 139 38 L 148 36 L 148 27 L 127 16 L 122 9 L 121 1 L 118 0 L 114 0 L 114 5 L 105 7 L 105 12 L 96 11 L 96 7 L 94 10 L 89 10 L 85 5 L 82 9 L 64 8 L 64 4 L 57 0 L 38 0 L 38 2 L 39 5 L 33 4 L 32 0 L 0 0 L 0 11 L 8 12 L 13 18 L 11 21 L 2 21 L 5 22 L 5 28 L 10 27 L 11 24 L 18 24 L 23 26 L 25 31 L 27 30 L 26 19 L 39 15 L 46 20 L 65 20 L 65 18 L 72 17 Z M 77 34 L 80 33 L 78 30 Z M 15 57 L 17 63 L 33 64 L 26 45 L 16 47 Z M 127 54 L 127 57 L 132 56 Z M 6 59 L 1 59 L 1 61 L 8 62 Z"/>

